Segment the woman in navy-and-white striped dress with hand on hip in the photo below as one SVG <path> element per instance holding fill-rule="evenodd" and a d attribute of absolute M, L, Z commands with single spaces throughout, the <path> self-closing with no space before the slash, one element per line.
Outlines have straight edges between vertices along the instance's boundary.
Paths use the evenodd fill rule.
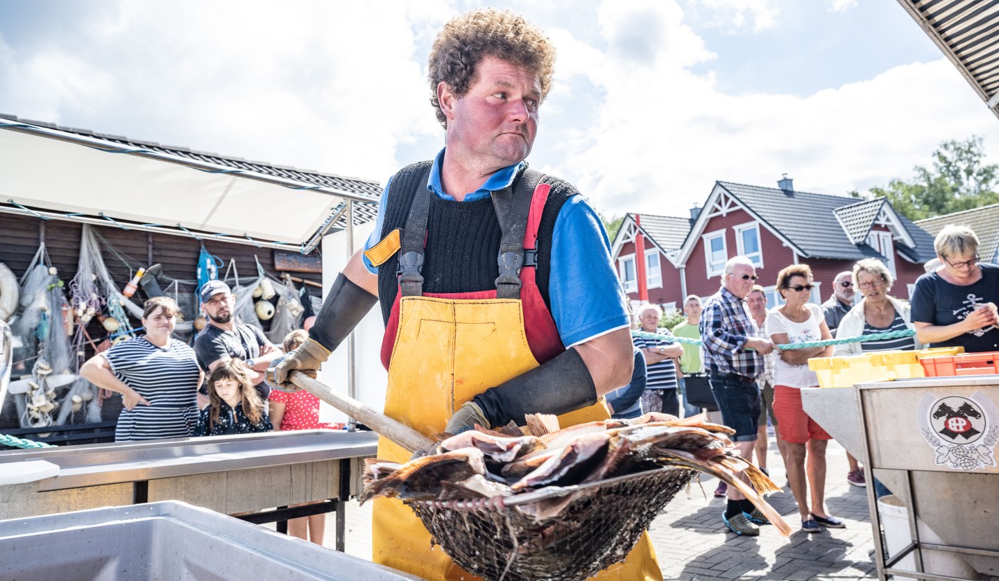
<path fill-rule="evenodd" d="M 198 419 L 202 381 L 194 349 L 172 338 L 179 308 L 172 298 L 146 301 L 146 334 L 94 355 L 80 374 L 122 395 L 115 441 L 188 437 Z"/>

